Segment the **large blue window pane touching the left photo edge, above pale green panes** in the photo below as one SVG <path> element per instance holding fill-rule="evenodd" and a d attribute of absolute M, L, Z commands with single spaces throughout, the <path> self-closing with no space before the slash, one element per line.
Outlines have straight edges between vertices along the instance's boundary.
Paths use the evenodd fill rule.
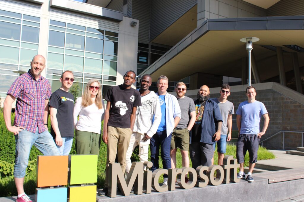
<path fill-rule="evenodd" d="M 21 25 L 0 21 L 0 37 L 20 40 Z"/>

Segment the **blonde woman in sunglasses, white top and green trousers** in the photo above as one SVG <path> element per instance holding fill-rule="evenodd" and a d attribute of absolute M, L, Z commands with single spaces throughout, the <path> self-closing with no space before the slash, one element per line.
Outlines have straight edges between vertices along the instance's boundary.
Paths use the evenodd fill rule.
<path fill-rule="evenodd" d="M 82 97 L 77 98 L 74 107 L 77 154 L 99 154 L 104 108 L 101 85 L 98 80 L 91 79 Z M 78 115 L 79 120 L 77 120 Z"/>

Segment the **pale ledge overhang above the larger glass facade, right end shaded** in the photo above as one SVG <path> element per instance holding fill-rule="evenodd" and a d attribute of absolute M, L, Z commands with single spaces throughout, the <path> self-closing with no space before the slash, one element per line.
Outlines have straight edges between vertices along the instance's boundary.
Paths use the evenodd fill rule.
<path fill-rule="evenodd" d="M 73 12 L 106 18 L 113 21 L 123 21 L 123 13 L 92 4 L 76 2 L 73 0 L 50 0 L 50 7 L 70 10 Z"/>

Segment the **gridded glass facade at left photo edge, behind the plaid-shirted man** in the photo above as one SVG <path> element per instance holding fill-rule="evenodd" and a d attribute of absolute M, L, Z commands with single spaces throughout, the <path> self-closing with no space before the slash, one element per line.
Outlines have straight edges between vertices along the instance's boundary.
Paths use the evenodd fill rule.
<path fill-rule="evenodd" d="M 0 10 L 0 95 L 4 99 L 13 81 L 27 72 L 38 54 L 40 18 Z"/>

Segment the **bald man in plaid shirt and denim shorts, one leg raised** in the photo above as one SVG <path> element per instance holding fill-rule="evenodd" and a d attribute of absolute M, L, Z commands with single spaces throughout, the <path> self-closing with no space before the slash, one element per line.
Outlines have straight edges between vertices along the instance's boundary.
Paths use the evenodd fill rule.
<path fill-rule="evenodd" d="M 14 179 L 18 191 L 16 200 L 18 202 L 32 201 L 23 190 L 32 146 L 35 145 L 43 155 L 60 155 L 53 137 L 47 130 L 51 86 L 50 82 L 40 75 L 45 67 L 45 58 L 42 55 L 35 55 L 30 65 L 29 71 L 14 81 L 3 103 L 6 127 L 14 133 L 16 141 Z M 15 120 L 12 126 L 12 103 L 16 99 Z"/>

